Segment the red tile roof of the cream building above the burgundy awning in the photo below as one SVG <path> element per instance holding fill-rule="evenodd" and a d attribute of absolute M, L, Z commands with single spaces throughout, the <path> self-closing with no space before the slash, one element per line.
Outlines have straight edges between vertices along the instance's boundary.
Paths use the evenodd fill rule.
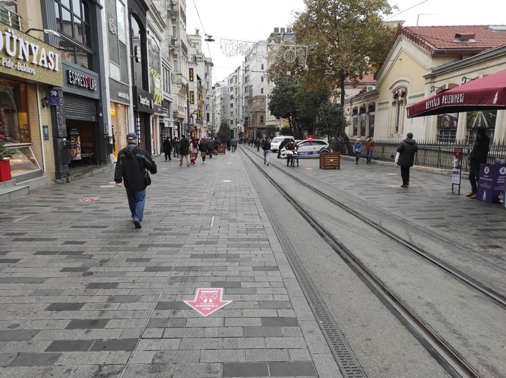
<path fill-rule="evenodd" d="M 506 33 L 491 32 L 488 25 L 406 26 L 401 33 L 433 54 L 437 49 L 497 48 L 506 44 Z M 459 42 L 455 34 L 475 34 L 476 42 Z"/>

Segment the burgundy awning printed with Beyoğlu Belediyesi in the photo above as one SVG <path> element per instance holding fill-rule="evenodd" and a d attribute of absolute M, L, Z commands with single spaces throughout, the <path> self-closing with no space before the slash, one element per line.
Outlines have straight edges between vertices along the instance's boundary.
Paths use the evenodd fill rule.
<path fill-rule="evenodd" d="M 506 70 L 440 92 L 406 108 L 408 118 L 506 109 Z"/>

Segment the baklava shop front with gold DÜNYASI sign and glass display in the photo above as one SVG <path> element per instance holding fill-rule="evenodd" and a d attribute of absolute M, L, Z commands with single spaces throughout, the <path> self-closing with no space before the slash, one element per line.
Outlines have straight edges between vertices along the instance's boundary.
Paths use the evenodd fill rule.
<path fill-rule="evenodd" d="M 0 140 L 16 150 L 10 168 L 17 182 L 47 172 L 51 141 L 42 123 L 51 117 L 49 88 L 61 85 L 58 49 L 0 23 Z"/>

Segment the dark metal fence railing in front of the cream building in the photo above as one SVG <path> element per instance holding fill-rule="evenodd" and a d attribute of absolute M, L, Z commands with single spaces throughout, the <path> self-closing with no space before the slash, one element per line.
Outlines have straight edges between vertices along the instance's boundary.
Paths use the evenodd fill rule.
<path fill-rule="evenodd" d="M 402 139 L 399 140 L 374 140 L 374 150 L 372 160 L 394 162 Z M 441 169 L 451 169 L 453 167 L 453 149 L 462 149 L 462 171 L 469 171 L 467 157 L 473 149 L 469 143 L 437 143 L 434 140 L 417 140 L 418 152 L 415 155 L 414 164 L 424 167 L 433 167 Z M 344 141 L 332 142 L 332 151 L 340 152 L 342 155 L 354 156 L 354 141 L 345 143 Z M 363 145 L 363 156 L 365 156 L 365 143 Z M 506 141 L 490 144 L 488 152 L 488 162 L 493 163 L 495 159 L 506 158 Z"/>

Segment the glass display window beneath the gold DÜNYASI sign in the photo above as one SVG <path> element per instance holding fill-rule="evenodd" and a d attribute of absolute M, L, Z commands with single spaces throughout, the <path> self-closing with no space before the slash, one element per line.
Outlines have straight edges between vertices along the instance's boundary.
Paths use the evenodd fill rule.
<path fill-rule="evenodd" d="M 30 143 L 26 84 L 0 79 L 0 137 L 7 143 Z"/>

